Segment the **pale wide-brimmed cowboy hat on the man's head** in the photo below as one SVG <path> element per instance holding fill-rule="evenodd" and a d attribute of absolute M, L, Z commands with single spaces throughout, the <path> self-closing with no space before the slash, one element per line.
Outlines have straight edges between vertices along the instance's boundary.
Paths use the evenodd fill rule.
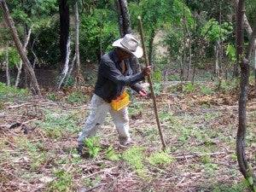
<path fill-rule="evenodd" d="M 143 48 L 139 46 L 138 39 L 131 34 L 126 34 L 124 38 L 119 38 L 112 44 L 113 47 L 119 47 L 125 51 L 135 55 L 137 58 L 143 56 Z"/>

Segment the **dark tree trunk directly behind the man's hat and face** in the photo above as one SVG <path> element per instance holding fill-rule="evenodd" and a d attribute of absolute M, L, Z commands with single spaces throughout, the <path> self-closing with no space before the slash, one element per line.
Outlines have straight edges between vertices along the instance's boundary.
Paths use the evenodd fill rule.
<path fill-rule="evenodd" d="M 115 0 L 115 4 L 116 4 L 116 9 L 118 14 L 120 36 L 124 37 L 125 34 L 132 33 L 127 1 Z M 135 56 L 133 56 L 130 59 L 130 64 L 131 64 L 131 69 L 133 73 L 139 73 L 141 71 L 140 63 Z"/>

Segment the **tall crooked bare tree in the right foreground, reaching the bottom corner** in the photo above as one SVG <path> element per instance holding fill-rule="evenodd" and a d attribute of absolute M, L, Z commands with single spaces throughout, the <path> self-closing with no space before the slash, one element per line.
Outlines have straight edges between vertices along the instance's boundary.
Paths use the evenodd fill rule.
<path fill-rule="evenodd" d="M 236 58 L 241 68 L 240 93 L 239 93 L 239 124 L 236 136 L 236 154 L 242 175 L 251 181 L 250 186 L 256 185 L 256 177 L 253 170 L 250 169 L 246 157 L 246 132 L 247 132 L 247 92 L 250 75 L 249 60 L 252 53 L 256 25 L 250 36 L 247 51 L 244 49 L 244 18 L 245 18 L 245 0 L 239 0 L 236 11 Z M 256 20 L 254 20 L 255 23 Z"/>

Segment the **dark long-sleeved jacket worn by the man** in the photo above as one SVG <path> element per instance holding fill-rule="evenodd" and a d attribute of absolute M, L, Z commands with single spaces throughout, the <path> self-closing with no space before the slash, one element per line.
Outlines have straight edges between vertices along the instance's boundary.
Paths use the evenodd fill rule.
<path fill-rule="evenodd" d="M 125 73 L 121 73 L 120 62 L 115 49 L 103 55 L 100 61 L 94 92 L 107 102 L 122 95 L 125 86 L 130 86 L 137 92 L 143 89 L 137 83 L 144 79 L 143 74 L 132 74 L 128 60 L 125 60 Z"/>

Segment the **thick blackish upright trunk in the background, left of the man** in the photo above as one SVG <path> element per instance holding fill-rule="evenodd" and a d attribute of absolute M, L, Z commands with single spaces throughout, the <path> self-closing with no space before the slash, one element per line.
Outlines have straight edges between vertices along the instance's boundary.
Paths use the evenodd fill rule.
<path fill-rule="evenodd" d="M 67 57 L 67 39 L 69 36 L 69 5 L 67 0 L 59 1 L 60 11 L 60 50 L 61 50 L 61 63 L 59 70 L 62 69 Z"/>

